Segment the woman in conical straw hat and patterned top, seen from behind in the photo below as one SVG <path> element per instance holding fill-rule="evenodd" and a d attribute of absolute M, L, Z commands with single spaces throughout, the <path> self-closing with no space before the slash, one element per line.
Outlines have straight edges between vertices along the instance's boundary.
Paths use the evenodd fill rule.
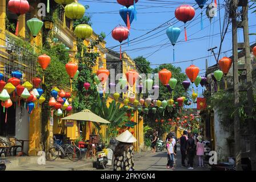
<path fill-rule="evenodd" d="M 119 143 L 114 151 L 114 171 L 133 171 L 133 143 L 137 142 L 137 139 L 128 130 L 115 139 Z"/>

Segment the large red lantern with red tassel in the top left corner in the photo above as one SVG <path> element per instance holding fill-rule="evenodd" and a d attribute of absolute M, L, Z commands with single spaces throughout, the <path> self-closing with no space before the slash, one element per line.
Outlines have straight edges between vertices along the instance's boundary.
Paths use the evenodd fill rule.
<path fill-rule="evenodd" d="M 29 2 L 27 0 L 10 0 L 8 2 L 8 10 L 11 13 L 17 14 L 17 16 L 26 14 L 29 11 Z M 19 31 L 19 19 L 17 19 L 17 25 L 15 35 L 18 35 Z"/>

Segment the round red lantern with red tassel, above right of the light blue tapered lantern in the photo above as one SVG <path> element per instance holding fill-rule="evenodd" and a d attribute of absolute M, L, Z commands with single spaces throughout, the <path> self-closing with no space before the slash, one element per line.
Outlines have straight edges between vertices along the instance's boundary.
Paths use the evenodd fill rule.
<path fill-rule="evenodd" d="M 181 22 L 185 23 L 185 40 L 187 41 L 186 22 L 193 19 L 195 16 L 195 10 L 190 5 L 181 5 L 175 10 L 175 17 Z"/>

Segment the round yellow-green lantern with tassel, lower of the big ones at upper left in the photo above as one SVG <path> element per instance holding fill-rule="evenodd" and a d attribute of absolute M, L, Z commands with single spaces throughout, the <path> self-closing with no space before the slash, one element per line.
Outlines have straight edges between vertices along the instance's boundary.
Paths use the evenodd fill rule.
<path fill-rule="evenodd" d="M 91 28 L 91 26 L 89 26 L 88 24 L 78 24 L 78 26 L 75 27 L 74 33 L 78 38 L 85 40 L 93 35 L 93 28 Z M 81 57 L 83 57 L 83 46 Z"/>

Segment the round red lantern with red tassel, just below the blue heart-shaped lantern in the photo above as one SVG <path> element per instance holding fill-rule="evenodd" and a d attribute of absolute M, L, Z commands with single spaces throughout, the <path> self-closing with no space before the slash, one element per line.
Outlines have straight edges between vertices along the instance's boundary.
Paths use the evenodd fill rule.
<path fill-rule="evenodd" d="M 115 27 L 112 30 L 112 37 L 115 40 L 118 40 L 121 44 L 123 40 L 126 40 L 129 36 L 129 29 L 123 26 Z M 122 47 L 120 45 L 120 60 L 122 59 Z"/>

